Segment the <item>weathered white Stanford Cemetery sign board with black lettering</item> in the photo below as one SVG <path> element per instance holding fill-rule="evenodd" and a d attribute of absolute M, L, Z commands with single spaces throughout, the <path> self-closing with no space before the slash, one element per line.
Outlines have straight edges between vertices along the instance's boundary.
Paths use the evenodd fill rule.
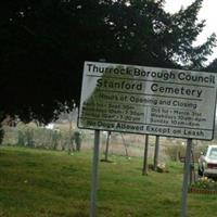
<path fill-rule="evenodd" d="M 213 139 L 216 74 L 85 62 L 78 127 Z"/>

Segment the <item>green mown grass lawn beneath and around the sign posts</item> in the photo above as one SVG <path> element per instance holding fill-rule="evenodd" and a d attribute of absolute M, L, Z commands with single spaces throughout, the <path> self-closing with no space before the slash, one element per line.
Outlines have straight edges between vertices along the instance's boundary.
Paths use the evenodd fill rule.
<path fill-rule="evenodd" d="M 141 176 L 142 158 L 100 163 L 99 217 L 177 217 L 182 164 Z M 88 217 L 91 152 L 0 146 L 0 217 Z M 217 195 L 189 194 L 188 217 L 216 216 Z"/>

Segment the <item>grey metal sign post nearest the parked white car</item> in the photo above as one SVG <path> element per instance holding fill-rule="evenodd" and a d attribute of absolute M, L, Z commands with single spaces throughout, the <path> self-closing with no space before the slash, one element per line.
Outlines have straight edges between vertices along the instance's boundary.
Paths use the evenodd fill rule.
<path fill-rule="evenodd" d="M 187 217 L 188 186 L 189 186 L 190 166 L 191 166 L 191 146 L 192 146 L 192 139 L 188 139 L 187 140 L 186 161 L 184 161 L 184 175 L 183 175 L 183 184 L 182 184 L 182 200 L 181 200 L 180 217 Z"/>

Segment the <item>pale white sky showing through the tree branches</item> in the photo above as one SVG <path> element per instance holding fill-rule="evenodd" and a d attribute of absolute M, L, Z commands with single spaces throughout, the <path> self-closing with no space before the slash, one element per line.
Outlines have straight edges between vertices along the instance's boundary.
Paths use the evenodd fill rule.
<path fill-rule="evenodd" d="M 181 7 L 186 8 L 193 0 L 166 0 L 165 10 L 167 12 L 177 12 Z M 206 20 L 206 26 L 197 38 L 197 42 L 203 42 L 212 33 L 217 35 L 217 0 L 204 0 L 203 7 L 199 12 L 199 20 Z M 214 48 L 214 53 L 209 61 L 217 58 L 217 48 Z"/>

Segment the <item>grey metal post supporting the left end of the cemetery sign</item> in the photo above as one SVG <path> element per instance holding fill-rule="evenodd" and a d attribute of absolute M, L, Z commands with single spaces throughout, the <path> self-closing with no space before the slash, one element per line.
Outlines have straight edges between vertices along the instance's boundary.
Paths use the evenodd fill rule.
<path fill-rule="evenodd" d="M 94 148 L 93 148 L 91 195 L 90 195 L 90 217 L 97 216 L 99 153 L 100 153 L 100 130 L 94 130 Z"/>

